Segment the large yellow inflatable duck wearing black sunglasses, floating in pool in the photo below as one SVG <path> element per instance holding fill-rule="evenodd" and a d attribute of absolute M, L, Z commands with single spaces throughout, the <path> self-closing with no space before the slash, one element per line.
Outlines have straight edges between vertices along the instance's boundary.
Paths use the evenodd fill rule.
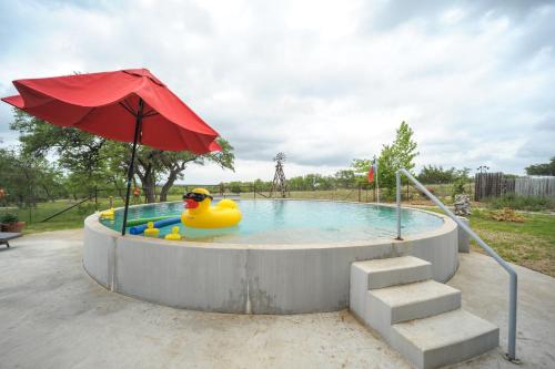
<path fill-rule="evenodd" d="M 183 196 L 185 209 L 181 223 L 192 228 L 224 228 L 241 222 L 241 211 L 231 199 L 222 199 L 216 206 L 210 206 L 213 197 L 204 188 L 194 188 Z"/>

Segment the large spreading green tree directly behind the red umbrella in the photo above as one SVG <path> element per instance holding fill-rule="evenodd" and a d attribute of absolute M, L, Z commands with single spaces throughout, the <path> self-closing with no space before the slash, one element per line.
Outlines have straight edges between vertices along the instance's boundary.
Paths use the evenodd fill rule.
<path fill-rule="evenodd" d="M 20 132 L 22 152 L 27 155 L 41 158 L 51 153 L 57 155 L 60 166 L 69 173 L 74 193 L 77 188 L 90 192 L 97 185 L 105 187 L 108 184 L 123 196 L 130 143 L 105 140 L 73 127 L 59 127 L 21 111 L 16 111 L 10 127 Z M 160 201 L 165 201 L 171 186 L 183 177 L 189 164 L 215 163 L 233 170 L 233 147 L 223 139 L 218 139 L 218 143 L 222 146 L 221 152 L 203 155 L 139 146 L 135 175 L 147 201 L 155 201 L 159 181 L 163 181 Z"/>

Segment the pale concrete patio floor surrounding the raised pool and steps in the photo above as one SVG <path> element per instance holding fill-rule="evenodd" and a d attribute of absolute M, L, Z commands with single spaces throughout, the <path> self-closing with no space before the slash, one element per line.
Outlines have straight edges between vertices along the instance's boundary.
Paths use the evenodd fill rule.
<path fill-rule="evenodd" d="M 347 310 L 209 314 L 110 293 L 84 273 L 81 247 L 81 230 L 63 230 L 0 248 L 1 368 L 410 368 Z M 505 271 L 490 257 L 461 254 L 448 284 L 465 309 L 501 328 L 502 347 L 456 368 L 555 367 L 555 278 L 516 269 L 521 366 L 501 357 Z"/>

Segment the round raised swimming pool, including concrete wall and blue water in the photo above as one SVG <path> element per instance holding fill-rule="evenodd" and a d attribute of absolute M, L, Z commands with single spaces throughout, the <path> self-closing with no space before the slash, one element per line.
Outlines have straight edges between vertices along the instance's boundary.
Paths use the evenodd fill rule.
<path fill-rule="evenodd" d="M 351 264 L 413 255 L 446 281 L 458 265 L 456 223 L 402 209 L 333 201 L 242 199 L 243 221 L 226 229 L 182 229 L 174 242 L 121 235 L 93 214 L 84 221 L 83 267 L 112 291 L 202 311 L 297 314 L 349 307 Z M 183 204 L 138 205 L 130 218 L 179 215 Z M 162 233 L 167 233 L 162 229 Z"/>

